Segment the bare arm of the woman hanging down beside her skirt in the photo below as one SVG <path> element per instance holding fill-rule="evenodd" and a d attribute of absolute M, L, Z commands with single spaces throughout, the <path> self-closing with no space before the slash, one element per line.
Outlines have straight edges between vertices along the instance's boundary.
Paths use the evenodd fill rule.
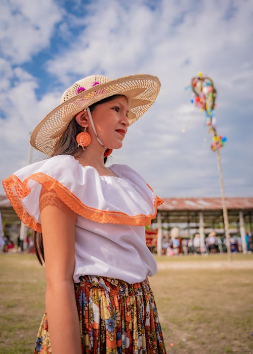
<path fill-rule="evenodd" d="M 46 311 L 54 354 L 81 354 L 75 302 L 74 229 L 76 214 L 54 191 L 40 194 L 40 219 L 46 264 Z"/>

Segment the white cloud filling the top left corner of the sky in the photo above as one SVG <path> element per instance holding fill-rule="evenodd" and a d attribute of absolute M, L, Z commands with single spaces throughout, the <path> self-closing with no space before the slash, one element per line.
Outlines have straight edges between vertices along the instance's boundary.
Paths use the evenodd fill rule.
<path fill-rule="evenodd" d="M 53 0 L 2 1 L 0 5 L 1 52 L 11 63 L 29 61 L 48 47 L 54 26 L 63 11 Z"/>

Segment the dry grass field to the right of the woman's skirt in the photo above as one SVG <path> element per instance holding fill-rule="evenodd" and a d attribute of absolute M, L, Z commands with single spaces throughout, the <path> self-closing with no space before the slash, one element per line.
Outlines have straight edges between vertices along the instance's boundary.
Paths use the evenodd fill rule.
<path fill-rule="evenodd" d="M 241 260 L 252 261 L 252 255 L 245 256 Z M 150 283 L 168 353 L 253 353 L 252 269 L 167 269 Z"/>

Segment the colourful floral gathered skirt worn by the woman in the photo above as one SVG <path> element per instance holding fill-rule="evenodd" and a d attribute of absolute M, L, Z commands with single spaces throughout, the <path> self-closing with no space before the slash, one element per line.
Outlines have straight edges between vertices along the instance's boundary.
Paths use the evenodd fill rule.
<path fill-rule="evenodd" d="M 154 296 L 146 281 L 80 277 L 74 284 L 82 353 L 166 353 Z M 52 353 L 47 314 L 34 354 Z"/>

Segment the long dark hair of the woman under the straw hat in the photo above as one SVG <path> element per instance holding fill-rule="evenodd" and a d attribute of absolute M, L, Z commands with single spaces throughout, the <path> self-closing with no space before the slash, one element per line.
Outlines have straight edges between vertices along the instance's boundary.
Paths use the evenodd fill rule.
<path fill-rule="evenodd" d="M 113 95 L 104 98 L 101 101 L 94 103 L 89 106 L 90 111 L 92 112 L 98 105 L 114 100 L 118 97 L 125 97 L 124 95 Z M 59 139 L 54 154 L 52 156 L 57 155 L 75 155 L 78 151 L 81 153 L 81 147 L 78 147 L 76 144 L 76 136 L 79 132 L 83 131 L 83 128 L 77 123 L 75 120 L 75 116 L 71 119 L 70 123 L 67 126 L 67 129 L 64 131 L 63 135 Z M 104 163 L 106 163 L 107 157 L 104 157 Z M 43 261 L 45 262 L 44 257 L 44 247 L 43 247 L 43 235 L 42 233 L 33 231 L 33 241 L 34 241 L 34 250 L 38 261 L 41 265 L 43 265 Z"/>

